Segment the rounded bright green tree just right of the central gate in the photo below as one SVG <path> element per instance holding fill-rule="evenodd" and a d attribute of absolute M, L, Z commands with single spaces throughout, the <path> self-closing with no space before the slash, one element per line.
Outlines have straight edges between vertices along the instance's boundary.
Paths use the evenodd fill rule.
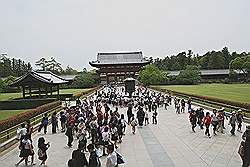
<path fill-rule="evenodd" d="M 166 83 L 167 80 L 167 73 L 159 70 L 159 68 L 153 64 L 145 66 L 139 72 L 139 81 L 146 86 L 163 84 Z"/>

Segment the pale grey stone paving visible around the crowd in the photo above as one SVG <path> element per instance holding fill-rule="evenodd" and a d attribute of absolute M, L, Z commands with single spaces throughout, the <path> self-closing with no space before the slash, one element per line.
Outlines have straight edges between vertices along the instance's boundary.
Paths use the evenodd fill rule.
<path fill-rule="evenodd" d="M 125 108 L 119 109 L 125 112 Z M 239 167 L 241 159 L 237 153 L 241 141 L 241 133 L 236 136 L 229 134 L 230 127 L 226 125 L 226 133 L 209 139 L 204 136 L 204 131 L 196 128 L 196 133 L 191 131 L 187 113 L 175 114 L 174 107 L 168 111 L 158 110 L 158 124 L 149 124 L 143 128 L 137 128 L 135 135 L 131 134 L 127 127 L 126 135 L 118 151 L 124 156 L 128 167 Z M 227 123 L 226 123 L 227 124 Z M 245 128 L 245 126 L 244 126 Z M 63 133 L 35 134 L 34 146 L 37 148 L 37 140 L 44 136 L 51 143 L 48 150 L 47 165 L 50 167 L 65 167 L 71 157 L 74 147 L 66 146 L 67 138 Z M 37 149 L 35 149 L 37 153 Z M 19 160 L 19 150 L 15 148 L 0 157 L 0 166 L 9 167 Z M 37 156 L 35 157 L 37 164 Z M 106 159 L 101 158 L 102 166 Z M 20 166 L 24 166 L 21 164 Z M 38 165 L 36 165 L 38 166 Z M 122 166 L 122 165 L 121 165 Z"/>

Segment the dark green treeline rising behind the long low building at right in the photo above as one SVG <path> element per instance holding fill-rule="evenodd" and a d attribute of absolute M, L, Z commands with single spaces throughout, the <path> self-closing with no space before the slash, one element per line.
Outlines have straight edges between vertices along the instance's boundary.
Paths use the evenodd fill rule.
<path fill-rule="evenodd" d="M 229 69 L 229 64 L 233 59 L 246 54 L 245 52 L 230 53 L 227 47 L 220 51 L 209 51 L 204 55 L 194 54 L 192 50 L 188 50 L 162 59 L 156 58 L 153 60 L 153 64 L 164 71 L 184 70 L 188 65 L 195 65 L 200 69 Z"/>

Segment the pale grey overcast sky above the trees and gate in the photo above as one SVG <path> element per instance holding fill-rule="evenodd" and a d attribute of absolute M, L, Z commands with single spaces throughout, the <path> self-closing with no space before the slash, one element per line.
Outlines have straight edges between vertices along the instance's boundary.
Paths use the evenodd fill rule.
<path fill-rule="evenodd" d="M 250 0 L 0 0 L 0 53 L 90 68 L 97 52 L 250 51 Z"/>

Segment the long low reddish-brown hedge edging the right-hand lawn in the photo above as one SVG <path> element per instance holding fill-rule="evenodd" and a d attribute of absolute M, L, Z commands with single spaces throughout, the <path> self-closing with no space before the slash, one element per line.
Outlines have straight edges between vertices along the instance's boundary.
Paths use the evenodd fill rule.
<path fill-rule="evenodd" d="M 185 96 L 190 96 L 190 97 L 196 97 L 196 98 L 211 101 L 211 102 L 217 102 L 217 103 L 222 103 L 222 104 L 226 104 L 226 105 L 230 105 L 230 106 L 235 106 L 235 107 L 246 109 L 248 111 L 250 110 L 250 103 L 241 103 L 241 102 L 220 99 L 220 98 L 216 98 L 216 97 L 208 97 L 208 96 L 201 96 L 201 95 L 196 95 L 196 94 L 182 93 L 182 92 L 177 92 L 177 91 L 172 91 L 172 90 L 167 90 L 167 89 L 162 89 L 162 88 L 153 87 L 153 89 L 156 89 L 156 90 L 162 91 L 162 92 L 166 92 L 166 91 L 169 93 L 171 92 L 171 93 L 176 94 L 176 95 L 179 94 L 179 95 L 185 95 Z"/>

